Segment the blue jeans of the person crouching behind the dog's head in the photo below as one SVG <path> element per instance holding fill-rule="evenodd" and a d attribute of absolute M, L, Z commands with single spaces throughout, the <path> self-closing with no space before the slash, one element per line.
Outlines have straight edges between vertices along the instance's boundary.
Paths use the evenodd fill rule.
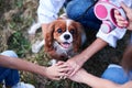
<path fill-rule="evenodd" d="M 94 4 L 94 0 L 70 0 L 66 4 L 66 13 L 69 19 L 80 22 L 86 28 L 98 31 L 101 21 L 96 18 L 94 7 L 86 12 L 91 4 Z"/>

